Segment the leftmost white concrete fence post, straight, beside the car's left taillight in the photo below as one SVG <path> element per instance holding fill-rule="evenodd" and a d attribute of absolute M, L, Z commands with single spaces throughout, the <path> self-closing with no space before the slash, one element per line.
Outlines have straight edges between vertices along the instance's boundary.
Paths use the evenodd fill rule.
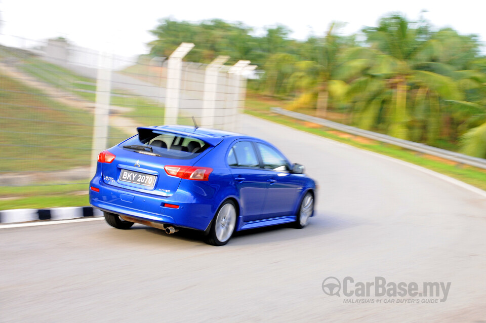
<path fill-rule="evenodd" d="M 96 172 L 98 154 L 108 148 L 112 56 L 100 52 L 96 79 L 96 101 L 91 145 L 91 174 Z"/>

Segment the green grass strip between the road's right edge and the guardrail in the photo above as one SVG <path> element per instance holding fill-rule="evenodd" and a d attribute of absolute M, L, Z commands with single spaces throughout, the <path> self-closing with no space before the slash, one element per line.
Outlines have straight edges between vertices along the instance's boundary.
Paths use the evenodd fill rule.
<path fill-rule="evenodd" d="M 336 130 L 325 129 L 319 125 L 302 122 L 291 117 L 272 113 L 270 111 L 270 107 L 285 107 L 287 104 L 286 101 L 280 101 L 280 105 L 278 103 L 279 100 L 277 99 L 264 97 L 255 93 L 249 93 L 247 95 L 247 108 L 245 112 L 298 130 L 343 142 L 357 148 L 374 151 L 383 155 L 404 160 L 405 162 L 422 166 L 437 173 L 450 176 L 480 189 L 486 190 L 486 171 L 482 169 L 467 165 L 455 165 L 446 159 L 425 154 L 418 154 L 412 150 L 370 139 L 363 140 L 362 137 L 349 135 Z"/>

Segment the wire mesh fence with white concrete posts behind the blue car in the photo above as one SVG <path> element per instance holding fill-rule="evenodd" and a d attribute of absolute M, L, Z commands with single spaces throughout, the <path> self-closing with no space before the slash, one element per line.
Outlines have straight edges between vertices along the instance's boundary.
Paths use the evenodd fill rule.
<path fill-rule="evenodd" d="M 86 193 L 99 151 L 139 126 L 192 125 L 194 116 L 237 131 L 241 71 L 253 67 L 226 59 L 129 58 L 0 35 L 0 197 Z"/>

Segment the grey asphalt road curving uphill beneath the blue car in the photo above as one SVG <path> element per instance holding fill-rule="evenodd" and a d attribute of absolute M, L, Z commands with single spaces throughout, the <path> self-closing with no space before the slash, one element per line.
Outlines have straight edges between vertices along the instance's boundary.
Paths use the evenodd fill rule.
<path fill-rule="evenodd" d="M 320 186 L 302 230 L 238 234 L 224 247 L 104 221 L 0 230 L 0 321 L 484 321 L 486 195 L 369 152 L 244 115 L 242 131 Z M 451 282 L 422 297 L 340 297 L 328 276 Z M 438 299 L 441 299 L 440 297 Z M 344 303 L 344 300 L 373 303 Z M 381 301 L 378 301 L 381 300 Z"/>

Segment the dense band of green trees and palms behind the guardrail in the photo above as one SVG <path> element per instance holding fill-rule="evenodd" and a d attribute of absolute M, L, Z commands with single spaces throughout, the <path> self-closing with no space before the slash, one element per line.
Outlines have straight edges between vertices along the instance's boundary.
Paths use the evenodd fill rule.
<path fill-rule="evenodd" d="M 400 14 L 356 35 L 340 26 L 297 41 L 281 25 L 256 36 L 242 23 L 164 19 L 151 31 L 149 56 L 191 42 L 188 61 L 248 59 L 259 68 L 249 88 L 288 100 L 288 109 L 486 157 L 486 57 L 477 36 Z"/>

